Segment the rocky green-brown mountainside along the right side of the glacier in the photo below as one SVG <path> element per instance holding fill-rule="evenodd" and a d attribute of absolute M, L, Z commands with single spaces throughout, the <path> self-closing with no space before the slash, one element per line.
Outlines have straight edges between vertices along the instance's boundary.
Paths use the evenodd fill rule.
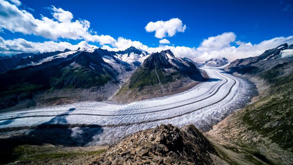
<path fill-rule="evenodd" d="M 214 126 L 208 133 L 212 139 L 241 146 L 269 164 L 293 164 L 293 52 L 282 57 L 284 50 L 292 48 L 283 44 L 260 56 L 235 60 L 225 68 L 258 83 L 260 95 L 253 104 Z"/>

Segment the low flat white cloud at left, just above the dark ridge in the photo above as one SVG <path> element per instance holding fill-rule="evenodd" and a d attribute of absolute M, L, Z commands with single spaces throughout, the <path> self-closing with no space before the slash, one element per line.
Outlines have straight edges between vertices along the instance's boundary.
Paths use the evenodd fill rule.
<path fill-rule="evenodd" d="M 96 47 L 94 45 L 89 45 L 86 41 L 81 41 L 76 45 L 72 45 L 68 42 L 30 42 L 22 38 L 17 38 L 13 40 L 5 40 L 0 36 L 0 55 L 15 55 L 18 53 L 38 53 L 38 52 L 51 52 L 68 48 L 70 50 L 76 50 L 77 48 L 89 49 Z"/>

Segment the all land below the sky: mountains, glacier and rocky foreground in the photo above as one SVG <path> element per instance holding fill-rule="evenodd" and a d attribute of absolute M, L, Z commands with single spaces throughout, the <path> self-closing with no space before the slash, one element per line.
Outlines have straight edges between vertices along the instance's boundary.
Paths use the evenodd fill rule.
<path fill-rule="evenodd" d="M 9 57 L 1 163 L 292 164 L 292 50 L 214 66 L 133 46 Z"/>

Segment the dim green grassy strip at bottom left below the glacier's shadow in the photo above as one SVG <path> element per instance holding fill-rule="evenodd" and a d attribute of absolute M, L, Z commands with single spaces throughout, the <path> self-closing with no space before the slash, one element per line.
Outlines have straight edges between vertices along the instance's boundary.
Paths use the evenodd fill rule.
<path fill-rule="evenodd" d="M 4 153 L 6 155 L 0 160 L 0 164 L 7 164 L 15 161 L 19 161 L 17 164 L 30 165 L 53 163 L 74 164 L 74 161 L 79 159 L 81 162 L 86 162 L 86 160 L 83 159 L 91 159 L 92 156 L 99 155 L 106 151 L 107 148 L 107 146 L 64 147 L 51 144 L 17 145 L 11 151 Z"/>

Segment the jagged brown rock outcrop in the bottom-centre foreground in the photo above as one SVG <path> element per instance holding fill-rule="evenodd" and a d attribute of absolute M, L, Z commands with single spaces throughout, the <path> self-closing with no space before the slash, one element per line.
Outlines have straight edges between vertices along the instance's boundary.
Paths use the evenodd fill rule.
<path fill-rule="evenodd" d="M 91 165 L 213 164 L 210 154 L 218 155 L 194 125 L 179 129 L 162 124 L 124 138 L 96 157 Z"/>

